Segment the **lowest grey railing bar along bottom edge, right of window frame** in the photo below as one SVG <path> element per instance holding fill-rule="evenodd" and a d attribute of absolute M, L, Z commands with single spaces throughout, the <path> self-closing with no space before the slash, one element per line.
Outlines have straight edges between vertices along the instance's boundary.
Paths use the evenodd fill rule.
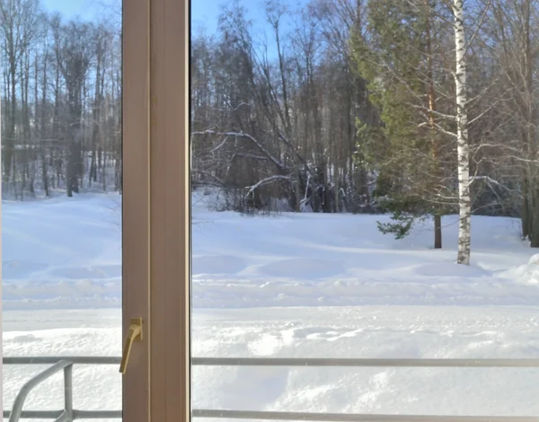
<path fill-rule="evenodd" d="M 316 422 L 539 422 L 535 417 L 368 415 L 193 409 L 193 418 L 259 419 Z"/>

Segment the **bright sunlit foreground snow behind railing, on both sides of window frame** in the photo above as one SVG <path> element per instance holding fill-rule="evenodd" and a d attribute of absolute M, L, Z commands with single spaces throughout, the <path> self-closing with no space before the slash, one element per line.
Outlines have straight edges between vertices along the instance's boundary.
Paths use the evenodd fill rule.
<path fill-rule="evenodd" d="M 193 356 L 537 357 L 537 308 L 366 306 L 195 310 Z M 4 354 L 119 356 L 119 310 L 10 311 Z M 4 409 L 42 366 L 4 367 Z M 539 370 L 194 367 L 194 409 L 539 414 Z M 62 377 L 25 409 L 61 409 Z M 75 365 L 76 409 L 121 409 L 115 366 Z M 202 419 L 200 419 L 202 420 Z M 45 422 L 45 421 L 43 421 Z M 110 420 L 110 422 L 113 422 Z"/>

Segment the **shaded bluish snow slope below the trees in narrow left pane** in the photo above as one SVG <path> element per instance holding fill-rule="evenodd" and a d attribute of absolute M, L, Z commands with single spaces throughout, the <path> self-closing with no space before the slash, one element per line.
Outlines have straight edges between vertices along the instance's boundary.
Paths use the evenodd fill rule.
<path fill-rule="evenodd" d="M 119 307 L 118 195 L 2 203 L 3 306 Z"/>

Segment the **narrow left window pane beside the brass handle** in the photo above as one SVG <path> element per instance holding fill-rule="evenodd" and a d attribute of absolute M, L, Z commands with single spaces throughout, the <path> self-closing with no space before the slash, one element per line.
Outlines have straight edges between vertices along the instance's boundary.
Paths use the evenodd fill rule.
<path fill-rule="evenodd" d="M 0 0 L 4 420 L 66 356 L 93 362 L 71 361 L 72 391 L 60 370 L 22 411 L 54 420 L 72 396 L 121 419 L 118 358 L 95 359 L 122 343 L 120 35 L 119 0 Z"/>

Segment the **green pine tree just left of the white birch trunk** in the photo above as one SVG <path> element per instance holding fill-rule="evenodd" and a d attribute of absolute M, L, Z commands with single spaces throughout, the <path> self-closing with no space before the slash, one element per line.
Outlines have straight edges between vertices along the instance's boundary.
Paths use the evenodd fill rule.
<path fill-rule="evenodd" d="M 435 68 L 431 0 L 371 1 L 368 41 L 352 39 L 358 73 L 370 82 L 370 100 L 381 110 L 381 127 L 358 122 L 358 149 L 378 174 L 376 198 L 393 213 L 384 233 L 405 236 L 417 218 L 434 217 L 435 248 L 441 248 L 441 215 L 455 209 L 455 183 L 442 165 L 454 117 L 440 112 L 436 90 L 449 78 Z M 439 38 L 439 37 L 438 37 Z M 438 66 L 439 67 L 439 66 Z M 435 75 L 435 73 L 437 75 Z M 445 107 L 446 104 L 441 104 Z M 446 133 L 447 132 L 447 133 Z"/>

